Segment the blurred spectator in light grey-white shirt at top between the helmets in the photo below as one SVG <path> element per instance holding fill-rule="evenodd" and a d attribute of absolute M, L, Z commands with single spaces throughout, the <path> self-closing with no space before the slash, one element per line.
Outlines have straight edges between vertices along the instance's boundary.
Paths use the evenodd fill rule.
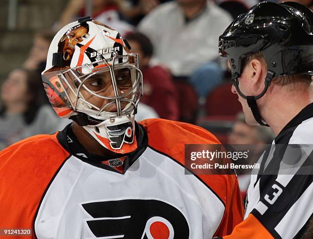
<path fill-rule="evenodd" d="M 212 1 L 176 0 L 155 7 L 138 25 L 152 41 L 154 57 L 175 77 L 218 58 L 216 44 L 232 17 Z M 209 81 L 209 79 L 208 79 Z"/>

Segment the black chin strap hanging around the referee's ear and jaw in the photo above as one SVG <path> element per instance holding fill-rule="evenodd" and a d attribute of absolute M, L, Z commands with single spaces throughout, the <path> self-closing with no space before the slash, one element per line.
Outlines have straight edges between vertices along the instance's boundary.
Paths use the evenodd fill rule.
<path fill-rule="evenodd" d="M 264 94 L 265 92 L 267 91 L 267 88 L 269 88 L 269 86 L 271 85 L 271 82 L 272 82 L 272 79 L 274 78 L 275 76 L 275 72 L 272 71 L 272 70 L 267 70 L 267 74 L 266 74 L 266 77 L 265 77 L 265 87 L 263 89 L 263 91 L 257 95 L 257 96 L 247 96 L 247 95 L 244 95 L 241 90 L 239 89 L 239 82 L 238 82 L 238 77 L 239 75 L 236 73 L 236 74 L 233 74 L 232 76 L 232 80 L 234 81 L 233 84 L 237 90 L 237 92 L 239 93 L 239 95 L 246 99 L 247 100 L 247 103 L 252 111 L 252 114 L 255 118 L 255 120 L 260 124 L 260 125 L 263 125 L 263 126 L 269 126 L 267 125 L 266 123 L 263 123 L 262 121 L 262 118 L 261 118 L 261 115 L 260 115 L 260 112 L 258 110 L 258 106 L 257 106 L 257 103 L 256 103 L 256 100 L 260 99 Z"/>

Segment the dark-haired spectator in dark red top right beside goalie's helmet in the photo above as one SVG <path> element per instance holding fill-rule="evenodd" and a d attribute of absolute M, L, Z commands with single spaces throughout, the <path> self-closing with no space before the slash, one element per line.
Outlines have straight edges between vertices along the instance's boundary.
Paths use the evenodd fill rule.
<path fill-rule="evenodd" d="M 141 102 L 151 106 L 161 118 L 178 120 L 177 93 L 170 74 L 161 66 L 149 65 L 153 54 L 151 41 L 142 33 L 132 33 L 126 39 L 130 52 L 139 54 L 144 86 Z"/>

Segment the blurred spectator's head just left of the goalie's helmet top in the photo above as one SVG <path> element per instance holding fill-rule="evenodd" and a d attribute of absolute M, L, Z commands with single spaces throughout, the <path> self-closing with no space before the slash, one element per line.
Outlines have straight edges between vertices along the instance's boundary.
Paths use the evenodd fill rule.
<path fill-rule="evenodd" d="M 36 70 L 41 74 L 44 68 L 46 68 L 48 50 L 54 35 L 50 31 L 35 34 L 33 46 L 23 64 L 25 69 Z"/>

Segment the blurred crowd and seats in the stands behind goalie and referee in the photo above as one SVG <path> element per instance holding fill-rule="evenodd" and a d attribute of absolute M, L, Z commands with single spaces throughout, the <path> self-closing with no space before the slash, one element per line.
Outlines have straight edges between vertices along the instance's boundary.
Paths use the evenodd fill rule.
<path fill-rule="evenodd" d="M 0 149 L 69 124 L 50 107 L 40 73 L 55 33 L 86 15 L 119 31 L 140 55 L 137 120 L 196 124 L 223 144 L 269 144 L 272 132 L 245 124 L 218 56 L 218 36 L 258 1 L 0 0 Z M 313 8 L 312 0 L 297 2 Z"/>

